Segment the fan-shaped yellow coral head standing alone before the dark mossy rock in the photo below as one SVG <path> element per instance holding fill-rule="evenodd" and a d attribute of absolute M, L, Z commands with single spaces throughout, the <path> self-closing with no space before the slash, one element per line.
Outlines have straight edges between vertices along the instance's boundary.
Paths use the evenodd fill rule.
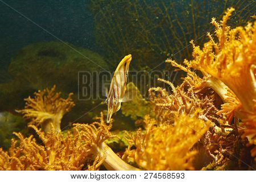
<path fill-rule="evenodd" d="M 25 99 L 26 106 L 23 110 L 18 110 L 24 118 L 31 119 L 31 125 L 41 125 L 43 131 L 51 131 L 51 125 L 57 132 L 60 132 L 60 123 L 63 115 L 75 106 L 72 101 L 72 93 L 67 99 L 60 97 L 60 92 L 56 92 L 56 86 L 51 90 L 35 92 L 35 98 L 28 97 Z"/>

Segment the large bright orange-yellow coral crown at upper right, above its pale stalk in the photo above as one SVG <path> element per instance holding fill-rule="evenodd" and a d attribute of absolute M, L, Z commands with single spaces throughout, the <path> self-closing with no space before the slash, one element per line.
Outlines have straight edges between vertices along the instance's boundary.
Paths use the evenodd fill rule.
<path fill-rule="evenodd" d="M 244 110 L 254 111 L 256 23 L 230 29 L 226 22 L 233 11 L 233 8 L 228 9 L 221 24 L 212 19 L 218 43 L 214 42 L 210 34 L 210 41 L 204 44 L 203 49 L 192 42 L 194 60 L 187 65 L 224 82 L 241 101 Z"/>

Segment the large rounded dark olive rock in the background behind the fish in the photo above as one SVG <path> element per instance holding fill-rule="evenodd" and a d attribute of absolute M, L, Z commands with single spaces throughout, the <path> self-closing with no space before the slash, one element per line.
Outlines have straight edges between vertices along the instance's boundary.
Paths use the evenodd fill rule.
<path fill-rule="evenodd" d="M 77 94 L 81 92 L 77 89 L 78 73 L 99 72 L 102 68 L 108 70 L 108 64 L 97 53 L 68 45 L 77 52 L 61 42 L 35 43 L 21 49 L 9 65 L 9 75 L 13 80 L 0 84 L 0 110 L 14 113 L 15 109 L 22 109 L 23 98 L 31 96 L 37 90 L 52 88 L 55 84 L 63 96 L 68 96 L 69 92 L 74 93 L 76 106 L 65 121 L 75 120 L 77 115 L 84 114 L 98 104 L 100 101 L 78 100 Z M 88 120 L 92 119 L 88 115 L 86 117 Z"/>

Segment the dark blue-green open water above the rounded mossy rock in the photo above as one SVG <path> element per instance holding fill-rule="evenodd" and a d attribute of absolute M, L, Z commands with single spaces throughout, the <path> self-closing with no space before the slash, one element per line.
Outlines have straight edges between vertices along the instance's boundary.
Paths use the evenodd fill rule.
<path fill-rule="evenodd" d="M 7 68 L 11 57 L 19 49 L 35 42 L 59 38 L 64 42 L 95 50 L 89 2 L 90 0 L 1 0 L 0 70 Z"/>

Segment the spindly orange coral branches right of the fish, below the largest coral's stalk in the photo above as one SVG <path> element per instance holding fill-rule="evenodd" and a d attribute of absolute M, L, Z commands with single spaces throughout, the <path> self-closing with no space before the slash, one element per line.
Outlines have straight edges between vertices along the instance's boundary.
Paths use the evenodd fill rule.
<path fill-rule="evenodd" d="M 220 124 L 221 118 L 218 117 L 216 112 L 218 111 L 213 104 L 213 98 L 203 97 L 200 98 L 193 92 L 192 88 L 187 88 L 186 82 L 183 82 L 180 86 L 175 86 L 167 80 L 159 78 L 158 80 L 165 82 L 171 86 L 172 94 L 168 94 L 166 89 L 150 88 L 149 92 L 151 100 L 156 98 L 156 106 L 163 107 L 168 110 L 168 113 L 172 114 L 188 114 L 193 115 L 197 109 L 202 108 L 200 111 L 200 118 L 208 121 L 209 119 Z M 152 92 L 158 92 L 160 96 L 157 98 Z"/>

